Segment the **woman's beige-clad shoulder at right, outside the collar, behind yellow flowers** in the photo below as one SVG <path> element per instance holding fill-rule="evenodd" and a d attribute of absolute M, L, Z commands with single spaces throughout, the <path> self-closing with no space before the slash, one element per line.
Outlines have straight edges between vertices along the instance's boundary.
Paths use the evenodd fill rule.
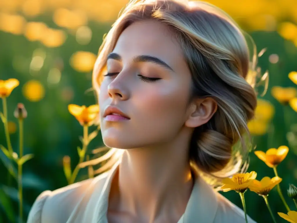
<path fill-rule="evenodd" d="M 215 217 L 215 222 L 227 223 L 227 222 L 238 222 L 245 223 L 244 211 L 230 202 L 226 197 L 220 193 L 217 194 L 218 209 Z M 257 223 L 249 216 L 247 216 L 249 223 Z"/>

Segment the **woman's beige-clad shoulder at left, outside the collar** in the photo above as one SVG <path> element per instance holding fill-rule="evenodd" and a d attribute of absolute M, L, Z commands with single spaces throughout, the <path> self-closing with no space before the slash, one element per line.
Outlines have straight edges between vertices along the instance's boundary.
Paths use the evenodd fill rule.
<path fill-rule="evenodd" d="M 27 223 L 64 223 L 72 215 L 82 215 L 89 202 L 99 199 L 107 175 L 106 172 L 54 191 L 43 191 L 33 203 Z"/>

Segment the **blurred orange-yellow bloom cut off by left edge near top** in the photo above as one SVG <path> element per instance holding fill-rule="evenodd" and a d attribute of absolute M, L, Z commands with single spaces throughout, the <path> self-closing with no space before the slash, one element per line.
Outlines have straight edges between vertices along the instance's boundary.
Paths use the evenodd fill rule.
<path fill-rule="evenodd" d="M 0 12 L 0 30 L 15 35 L 23 33 L 26 20 L 20 15 L 10 15 Z"/>

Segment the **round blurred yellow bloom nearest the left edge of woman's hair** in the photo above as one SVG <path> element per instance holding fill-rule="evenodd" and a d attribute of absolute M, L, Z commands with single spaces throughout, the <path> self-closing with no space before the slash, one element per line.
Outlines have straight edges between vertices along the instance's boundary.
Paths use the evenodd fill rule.
<path fill-rule="evenodd" d="M 70 58 L 70 65 L 79 72 L 90 72 L 93 70 L 97 56 L 91 52 L 77 51 Z"/>

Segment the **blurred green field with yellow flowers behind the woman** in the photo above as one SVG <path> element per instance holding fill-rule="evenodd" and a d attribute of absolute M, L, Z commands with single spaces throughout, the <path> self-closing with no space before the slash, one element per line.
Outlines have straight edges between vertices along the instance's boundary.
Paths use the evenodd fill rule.
<path fill-rule="evenodd" d="M 7 102 L 7 128 L 0 123 L 0 145 L 9 150 L 7 129 L 15 152 L 7 158 L 6 150 L 2 147 L 0 150 L 0 222 L 18 222 L 20 216 L 18 177 L 9 174 L 7 165 L 13 166 L 12 171 L 16 173 L 22 166 L 23 222 L 42 191 L 96 175 L 99 166 L 76 168 L 82 159 L 102 154 L 93 154 L 96 148 L 103 146 L 100 131 L 83 117 L 92 119 L 88 112 L 96 111 L 92 106 L 96 99 L 91 88 L 91 73 L 102 37 L 127 2 L 0 1 L 0 95 Z M 265 86 L 258 87 L 256 117 L 249 123 L 256 147 L 250 153 L 248 172 L 255 171 L 260 181 L 264 177 L 275 177 L 273 167 L 277 166 L 281 182 L 279 178 L 271 181 L 265 178 L 261 183 L 275 186 L 269 188 L 271 212 L 276 222 L 287 222 L 277 214 L 288 212 L 278 187 L 288 208 L 297 211 L 287 195 L 289 184 L 297 186 L 297 1 L 209 2 L 229 13 L 252 36 L 259 54 L 258 67 L 263 76 L 266 71 L 269 73 L 267 92 L 261 96 Z M 10 78 L 19 81 L 15 89 L 1 81 Z M 4 95 L 9 88 L 11 94 Z M 3 102 L 0 102 L 0 112 L 4 114 Z M 25 113 L 23 105 L 18 103 L 23 103 L 26 118 L 20 118 Z M 80 107 L 83 105 L 86 107 Z M 20 123 L 23 125 L 21 149 Z M 277 156 L 276 150 L 269 150 L 270 155 L 266 153 L 280 146 L 289 148 L 286 156 L 284 153 Z M 263 153 L 255 154 L 254 150 Z M 23 160 L 20 154 L 25 155 Z M 265 207 L 266 200 L 251 191 L 259 191 L 259 185 L 260 182 L 254 182 L 252 189 L 244 193 L 247 213 L 257 222 L 273 222 Z M 240 196 L 234 191 L 221 193 L 243 208 Z"/>

